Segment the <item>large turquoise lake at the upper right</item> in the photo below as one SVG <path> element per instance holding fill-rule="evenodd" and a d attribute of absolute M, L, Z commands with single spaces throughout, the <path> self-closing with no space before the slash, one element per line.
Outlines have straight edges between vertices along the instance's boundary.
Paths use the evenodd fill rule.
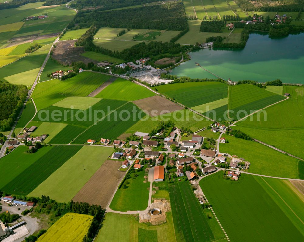
<path fill-rule="evenodd" d="M 244 49 L 202 49 L 191 52 L 190 56 L 191 60 L 174 68 L 171 75 L 216 78 L 196 66 L 197 62 L 224 80 L 280 79 L 283 83 L 304 84 L 304 33 L 273 39 L 253 33 Z"/>

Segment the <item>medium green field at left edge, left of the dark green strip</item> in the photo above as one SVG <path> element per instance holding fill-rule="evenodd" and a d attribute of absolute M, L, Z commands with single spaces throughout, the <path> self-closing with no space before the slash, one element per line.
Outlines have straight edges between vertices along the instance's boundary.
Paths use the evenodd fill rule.
<path fill-rule="evenodd" d="M 47 152 L 53 152 L 54 147 L 43 147 L 39 149 L 36 153 L 30 154 L 25 151 L 28 149 L 28 146 L 22 145 L 10 154 L 2 157 L 0 160 L 0 169 L 5 174 L 5 176 L 0 177 L 0 190 L 15 193 L 14 189 L 7 190 L 9 183 L 18 179 L 19 176 L 24 174 L 29 167 L 31 167 L 35 162 L 40 161 Z M 23 182 L 26 180 L 23 180 Z M 6 184 L 6 185 L 5 185 Z"/>

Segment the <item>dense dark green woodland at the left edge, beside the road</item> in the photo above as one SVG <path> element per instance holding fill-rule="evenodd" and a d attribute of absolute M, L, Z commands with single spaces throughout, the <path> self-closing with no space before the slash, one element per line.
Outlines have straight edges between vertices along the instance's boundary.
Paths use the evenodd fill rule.
<path fill-rule="evenodd" d="M 24 85 L 14 85 L 0 81 L 0 130 L 8 131 L 19 114 L 26 99 Z"/>

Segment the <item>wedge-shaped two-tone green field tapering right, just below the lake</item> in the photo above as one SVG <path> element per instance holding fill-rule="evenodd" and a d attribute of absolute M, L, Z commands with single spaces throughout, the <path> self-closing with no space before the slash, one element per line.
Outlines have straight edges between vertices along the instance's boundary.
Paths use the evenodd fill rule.
<path fill-rule="evenodd" d="M 235 120 L 284 99 L 282 95 L 251 84 L 229 86 L 228 93 L 229 116 Z"/>

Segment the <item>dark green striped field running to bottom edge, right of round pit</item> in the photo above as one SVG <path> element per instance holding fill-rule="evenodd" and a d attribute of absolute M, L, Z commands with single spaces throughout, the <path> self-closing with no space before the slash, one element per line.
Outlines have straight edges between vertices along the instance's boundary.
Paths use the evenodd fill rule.
<path fill-rule="evenodd" d="M 210 241 L 212 230 L 188 182 L 169 187 L 172 216 L 177 241 Z"/>

